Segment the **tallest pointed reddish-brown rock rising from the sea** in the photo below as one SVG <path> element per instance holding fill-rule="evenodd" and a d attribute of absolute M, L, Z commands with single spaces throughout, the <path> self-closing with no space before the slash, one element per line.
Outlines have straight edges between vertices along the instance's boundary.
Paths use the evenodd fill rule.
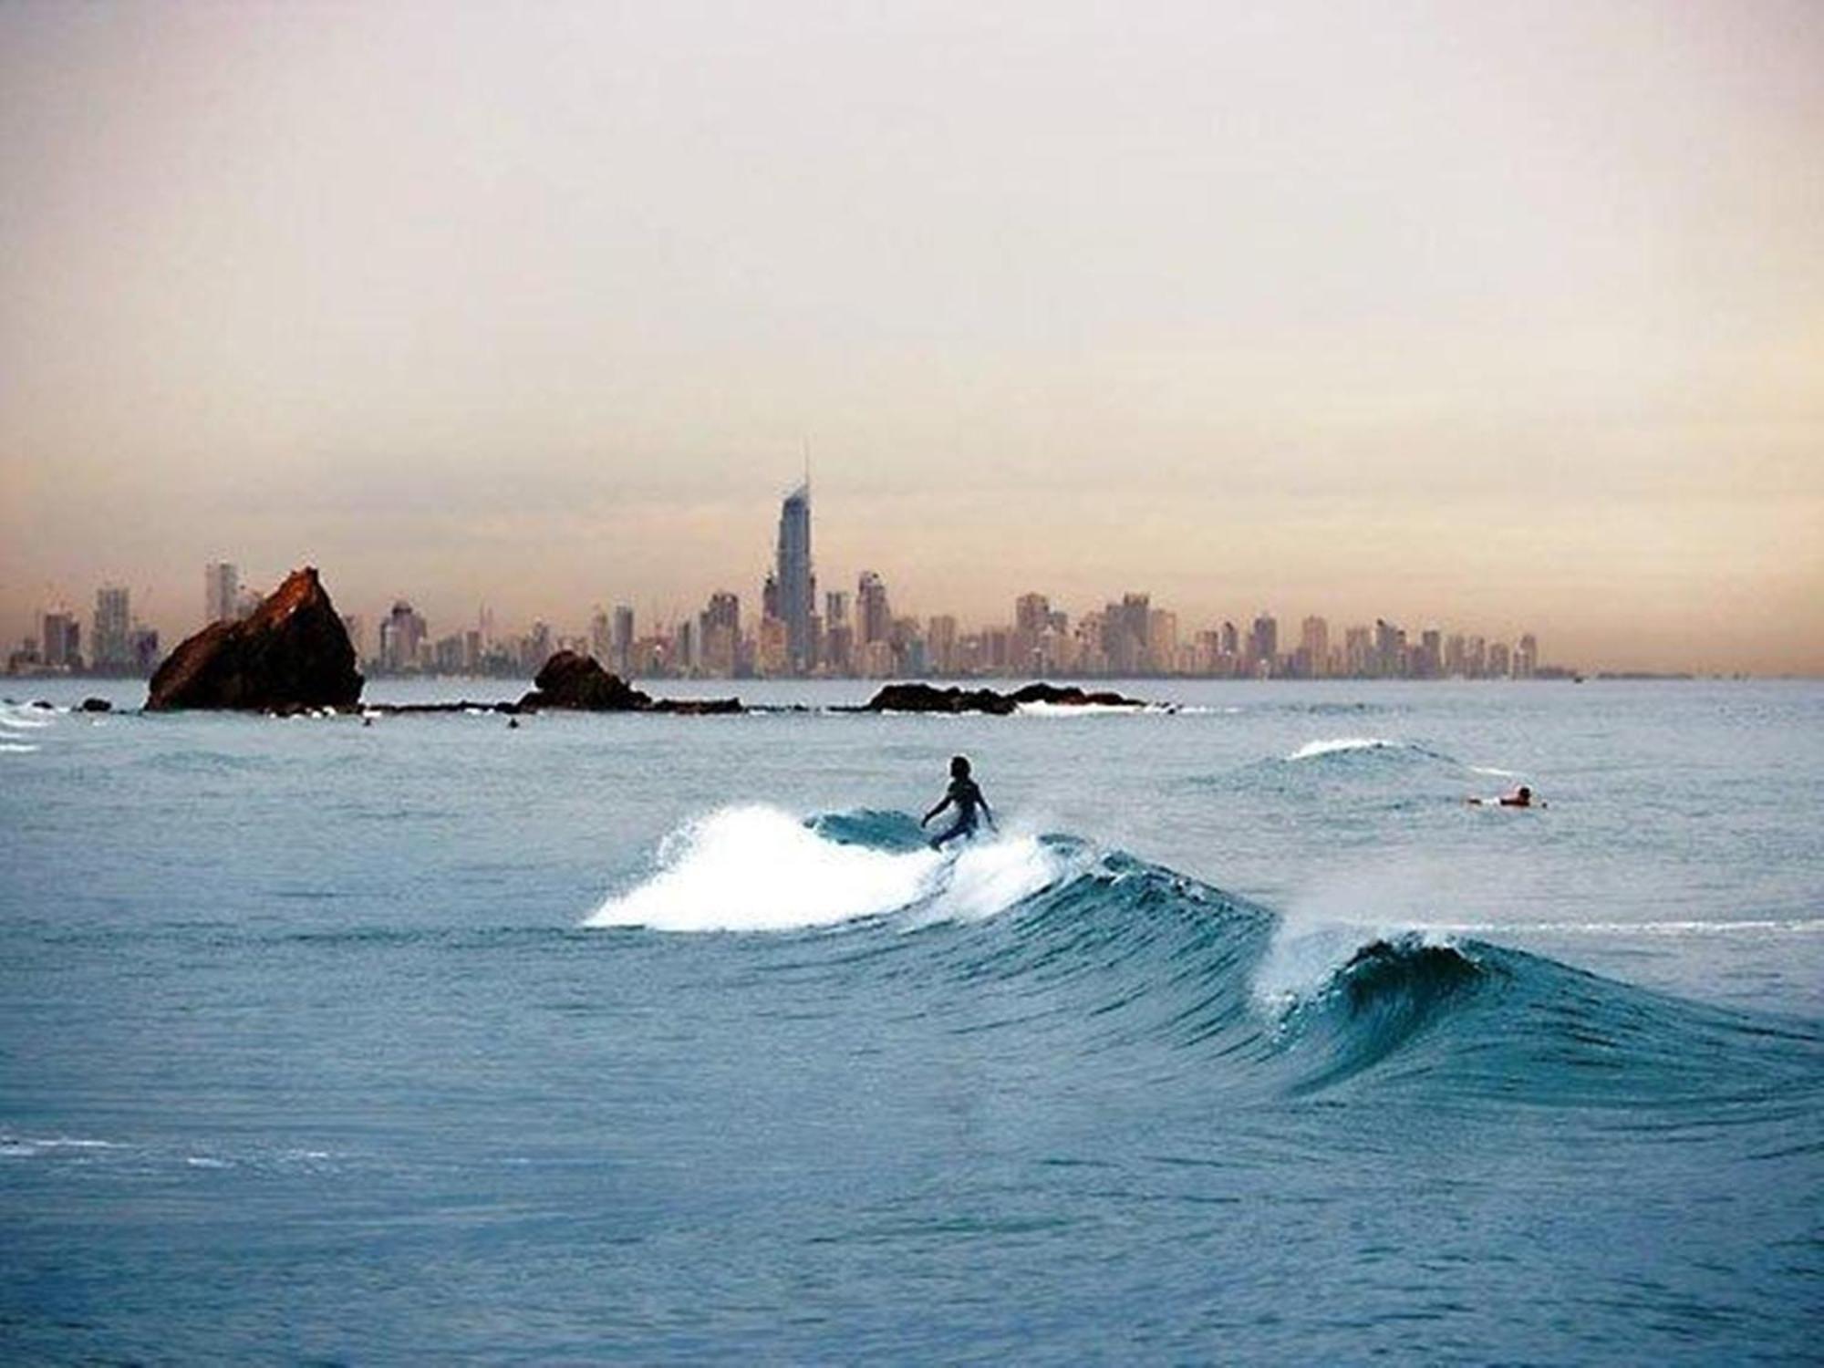
<path fill-rule="evenodd" d="M 354 646 L 312 565 L 292 571 L 252 617 L 212 622 L 151 677 L 148 711 L 352 708 Z"/>

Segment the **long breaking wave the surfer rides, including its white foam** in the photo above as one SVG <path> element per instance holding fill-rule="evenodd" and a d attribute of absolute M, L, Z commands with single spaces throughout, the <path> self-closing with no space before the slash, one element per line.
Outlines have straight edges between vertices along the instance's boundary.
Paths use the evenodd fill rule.
<path fill-rule="evenodd" d="M 1156 1056 L 1151 1069 L 1229 1093 L 1419 1089 L 1452 1105 L 1649 1104 L 1663 1118 L 1815 1102 L 1824 1082 L 1809 1025 L 1435 932 L 1291 939 L 1273 912 L 1122 852 L 1003 835 L 947 857 L 896 812 L 711 812 L 586 925 L 890 938 L 832 952 L 839 972 L 890 961 L 919 1010 L 943 1001 L 963 1018 L 972 994 L 1043 998 L 1069 1049 Z"/>

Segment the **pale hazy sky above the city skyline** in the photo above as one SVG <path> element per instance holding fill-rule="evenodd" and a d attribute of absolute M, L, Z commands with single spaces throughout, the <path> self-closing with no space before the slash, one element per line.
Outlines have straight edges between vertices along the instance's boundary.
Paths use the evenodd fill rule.
<path fill-rule="evenodd" d="M 1151 589 L 1824 671 L 1824 4 L 0 4 L 0 627 Z"/>

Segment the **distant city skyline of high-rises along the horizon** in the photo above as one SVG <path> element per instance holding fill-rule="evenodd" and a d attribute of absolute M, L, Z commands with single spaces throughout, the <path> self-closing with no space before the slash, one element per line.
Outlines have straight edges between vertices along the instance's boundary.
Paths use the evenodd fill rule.
<path fill-rule="evenodd" d="M 235 565 L 204 567 L 204 622 L 244 617 L 259 604 Z M 821 611 L 819 611 L 821 609 Z M 710 595 L 702 611 L 640 631 L 629 606 L 596 607 L 582 635 L 565 637 L 545 622 L 502 637 L 485 607 L 472 627 L 441 637 L 407 600 L 398 600 L 368 633 L 367 618 L 343 617 L 356 657 L 370 675 L 503 675 L 527 679 L 558 649 L 586 651 L 622 677 L 812 679 L 812 677 L 1145 677 L 1200 679 L 1532 679 L 1569 673 L 1539 660 L 1538 638 L 1487 640 L 1477 635 L 1404 627 L 1377 620 L 1333 635 L 1308 617 L 1297 640 L 1282 637 L 1271 613 L 1246 624 L 1218 622 L 1184 629 L 1178 615 L 1155 607 L 1149 595 L 1127 593 L 1100 609 L 1071 617 L 1042 593 L 1014 600 L 1012 620 L 965 631 L 952 615 L 896 615 L 886 582 L 861 571 L 855 587 L 830 589 L 819 602 L 812 560 L 810 483 L 793 489 L 779 511 L 773 564 L 761 586 L 759 615 L 744 618 L 731 589 Z M 150 673 L 159 662 L 159 633 L 133 622 L 128 591 L 95 596 L 91 649 L 82 653 L 73 613 L 40 615 L 36 640 L 11 657 L 15 673 Z"/>

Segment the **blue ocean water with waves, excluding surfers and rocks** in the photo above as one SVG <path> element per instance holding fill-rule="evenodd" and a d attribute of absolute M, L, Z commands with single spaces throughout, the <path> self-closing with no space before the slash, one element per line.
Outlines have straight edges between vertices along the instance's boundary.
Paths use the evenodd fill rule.
<path fill-rule="evenodd" d="M 1824 686 L 1125 688 L 5 682 L 0 1361 L 1819 1361 Z"/>

